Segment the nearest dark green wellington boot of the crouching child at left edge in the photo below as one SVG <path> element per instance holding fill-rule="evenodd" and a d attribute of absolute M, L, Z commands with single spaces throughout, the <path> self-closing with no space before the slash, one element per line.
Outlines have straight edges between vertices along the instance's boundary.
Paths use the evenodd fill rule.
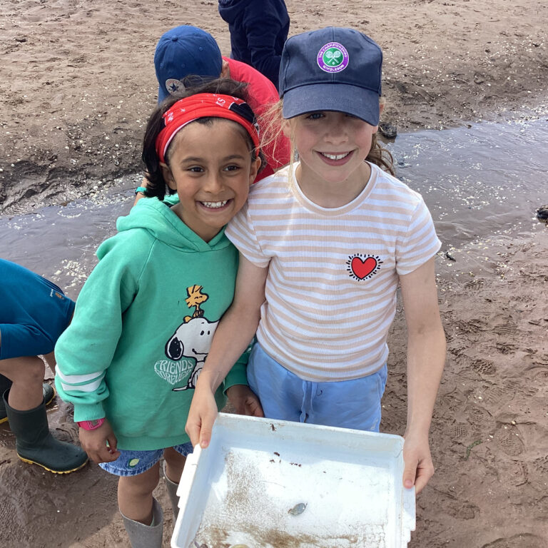
<path fill-rule="evenodd" d="M 8 394 L 6 390 L 4 407 L 16 437 L 17 456 L 23 462 L 39 465 L 54 474 L 80 470 L 88 462 L 88 455 L 80 447 L 60 442 L 51 435 L 44 403 L 28 411 L 17 411 L 9 406 Z"/>

